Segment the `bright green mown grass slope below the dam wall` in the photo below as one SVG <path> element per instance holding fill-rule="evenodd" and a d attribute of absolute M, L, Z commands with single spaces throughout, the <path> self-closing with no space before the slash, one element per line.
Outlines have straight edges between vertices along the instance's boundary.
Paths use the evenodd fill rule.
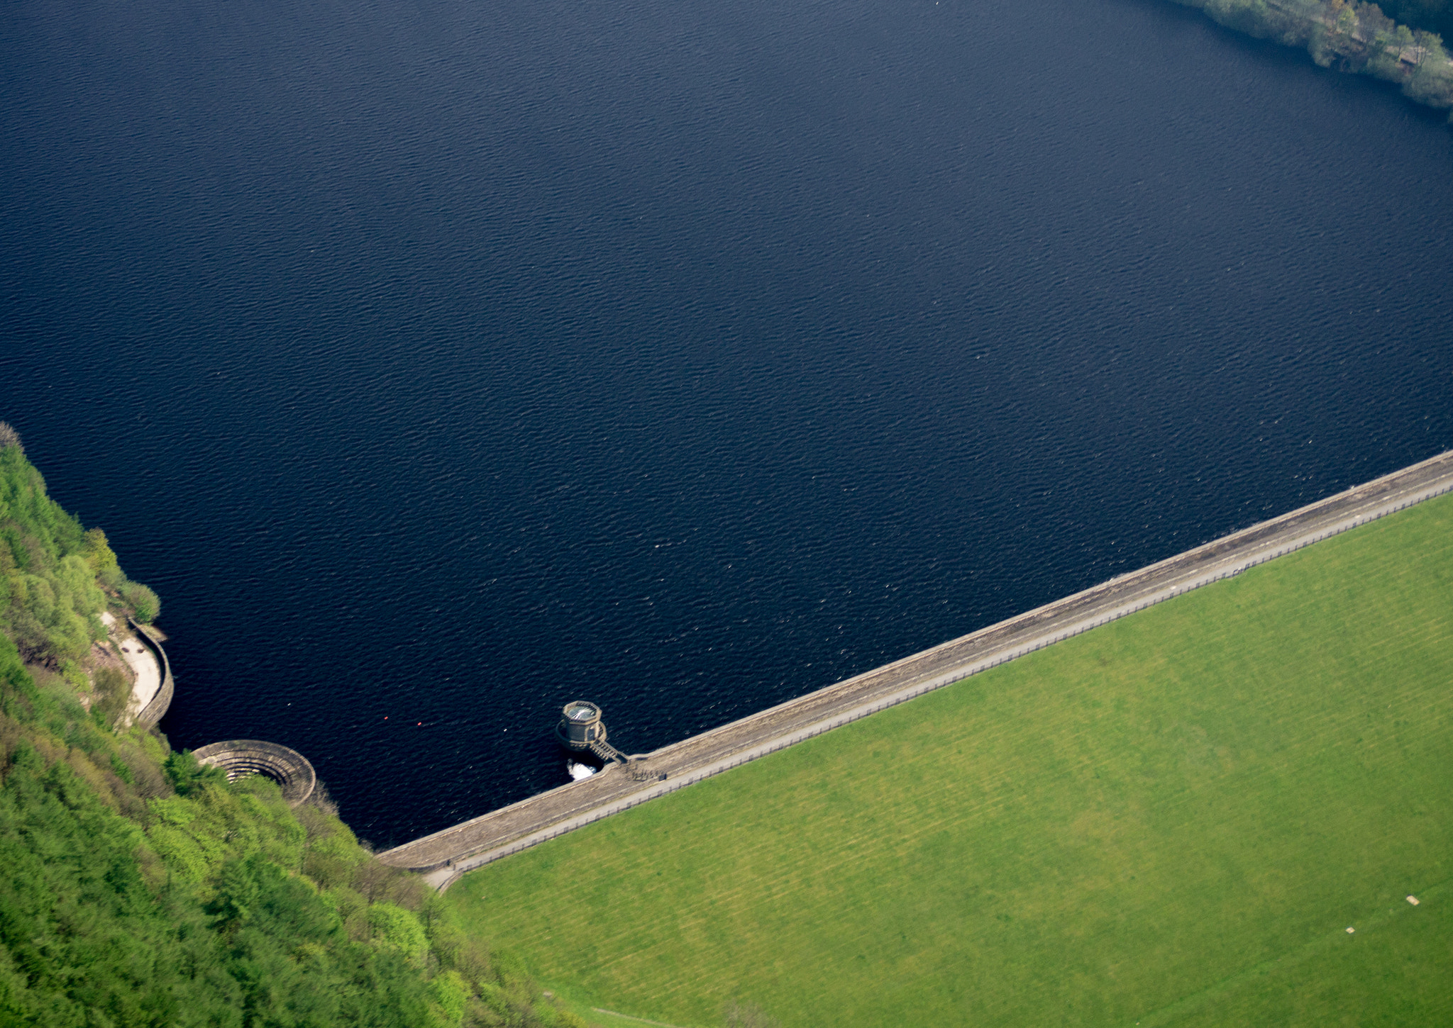
<path fill-rule="evenodd" d="M 679 1025 L 1431 1025 L 1450 877 L 1443 498 L 448 897 L 575 1002 Z"/>

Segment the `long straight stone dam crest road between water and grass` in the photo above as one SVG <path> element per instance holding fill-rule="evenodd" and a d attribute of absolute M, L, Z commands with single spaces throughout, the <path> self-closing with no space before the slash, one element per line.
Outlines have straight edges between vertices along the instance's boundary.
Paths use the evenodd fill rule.
<path fill-rule="evenodd" d="M 1453 450 L 378 858 L 446 889 L 501 857 L 1446 492 Z"/>

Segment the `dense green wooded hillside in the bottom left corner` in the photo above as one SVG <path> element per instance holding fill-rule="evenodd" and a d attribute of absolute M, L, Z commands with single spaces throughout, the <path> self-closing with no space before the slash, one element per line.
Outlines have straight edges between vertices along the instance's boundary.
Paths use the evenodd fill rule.
<path fill-rule="evenodd" d="M 0 449 L 0 504 L 6 630 L 32 656 L 84 652 L 103 587 L 128 585 L 105 537 L 49 501 L 17 444 Z M 97 669 L 87 711 L 77 668 L 32 674 L 0 635 L 0 1028 L 584 1024 L 331 813 L 109 730 L 97 709 L 125 678 Z"/>

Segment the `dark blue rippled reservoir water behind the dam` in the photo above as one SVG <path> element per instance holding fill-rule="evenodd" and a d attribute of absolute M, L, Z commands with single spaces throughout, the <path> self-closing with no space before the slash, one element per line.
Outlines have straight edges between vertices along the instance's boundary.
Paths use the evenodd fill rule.
<path fill-rule="evenodd" d="M 1149 0 L 13 0 L 0 417 L 401 842 L 1453 446 L 1436 115 Z"/>

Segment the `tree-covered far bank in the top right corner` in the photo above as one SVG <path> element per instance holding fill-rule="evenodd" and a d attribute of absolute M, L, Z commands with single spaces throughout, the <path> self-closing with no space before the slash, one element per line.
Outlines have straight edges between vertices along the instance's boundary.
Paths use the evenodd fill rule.
<path fill-rule="evenodd" d="M 1348 0 L 1174 0 L 1257 39 L 1300 46 L 1324 68 L 1396 83 L 1408 99 L 1453 107 L 1453 62 L 1443 38 L 1398 25 L 1375 3 Z M 1453 112 L 1449 116 L 1453 123 Z"/>

